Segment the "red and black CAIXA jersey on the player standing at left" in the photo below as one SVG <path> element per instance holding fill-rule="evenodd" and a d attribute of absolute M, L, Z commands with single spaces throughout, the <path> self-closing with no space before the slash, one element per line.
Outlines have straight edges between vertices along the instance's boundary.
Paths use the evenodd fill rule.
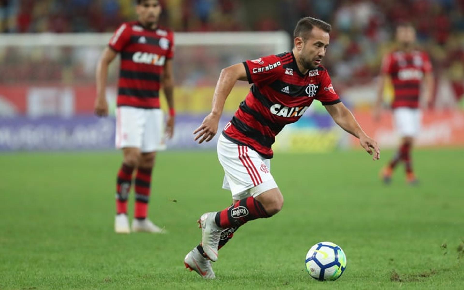
<path fill-rule="evenodd" d="M 117 105 L 160 108 L 161 75 L 166 59 L 174 55 L 174 33 L 160 27 L 150 30 L 138 21 L 126 22 L 109 45 L 121 54 Z"/>

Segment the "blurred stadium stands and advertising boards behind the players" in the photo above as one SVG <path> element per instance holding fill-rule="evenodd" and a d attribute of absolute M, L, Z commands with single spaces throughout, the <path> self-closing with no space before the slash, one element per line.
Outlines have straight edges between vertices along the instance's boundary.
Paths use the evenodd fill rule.
<path fill-rule="evenodd" d="M 220 69 L 245 59 L 290 50 L 292 29 L 297 19 L 305 15 L 333 25 L 323 64 L 343 102 L 382 148 L 394 147 L 397 139 L 393 137 L 389 113 L 380 123 L 372 122 L 370 109 L 376 97 L 376 77 L 383 53 L 392 49 L 395 24 L 412 22 L 417 27 L 420 46 L 431 55 L 436 81 L 433 108 L 425 112 L 418 144 L 464 145 L 462 0 L 161 2 L 161 23 L 180 32 L 174 58 L 174 96 L 179 115 L 174 139 L 168 142 L 171 149 L 214 147 L 214 142 L 197 146 L 190 133 L 210 110 Z M 112 148 L 113 120 L 91 116 L 95 65 L 117 26 L 135 19 L 133 1 L 3 0 L 0 17 L 0 31 L 4 32 L 0 38 L 0 150 Z M 193 42 L 182 41 L 188 40 L 192 32 L 210 33 L 212 45 L 198 43 L 204 39 L 199 34 L 190 35 Z M 257 39 L 261 38 L 273 40 L 259 45 Z M 117 73 L 118 61 L 111 66 L 107 94 L 113 107 Z M 247 90 L 248 85 L 241 83 L 232 91 L 224 122 Z M 391 93 L 386 90 L 386 103 Z M 302 121 L 277 137 L 276 151 L 332 151 L 356 146 L 355 140 L 336 127 L 318 105 L 316 102 Z"/>

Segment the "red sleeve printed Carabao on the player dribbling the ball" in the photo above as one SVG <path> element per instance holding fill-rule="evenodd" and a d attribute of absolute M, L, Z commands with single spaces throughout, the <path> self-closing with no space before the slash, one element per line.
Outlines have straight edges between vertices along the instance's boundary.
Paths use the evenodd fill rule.
<path fill-rule="evenodd" d="M 250 84 L 268 84 L 284 72 L 280 58 L 275 55 L 247 60 L 243 64 Z"/>

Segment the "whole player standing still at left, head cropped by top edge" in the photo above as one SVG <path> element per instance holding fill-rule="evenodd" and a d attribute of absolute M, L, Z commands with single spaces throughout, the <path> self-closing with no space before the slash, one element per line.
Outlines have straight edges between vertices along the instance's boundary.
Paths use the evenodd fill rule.
<path fill-rule="evenodd" d="M 108 115 L 105 98 L 108 66 L 121 54 L 116 111 L 116 148 L 124 160 L 117 174 L 115 231 L 129 233 L 127 199 L 135 172 L 133 232 L 162 232 L 147 219 L 155 153 L 165 148 L 165 135 L 174 130 L 173 32 L 158 26 L 158 0 L 137 0 L 138 21 L 123 23 L 111 38 L 97 66 L 95 114 Z M 169 117 L 164 131 L 159 90 L 163 87 Z"/>

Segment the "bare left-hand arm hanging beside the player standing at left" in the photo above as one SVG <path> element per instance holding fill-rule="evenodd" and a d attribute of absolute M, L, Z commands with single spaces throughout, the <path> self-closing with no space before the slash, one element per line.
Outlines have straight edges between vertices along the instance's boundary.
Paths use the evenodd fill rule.
<path fill-rule="evenodd" d="M 97 116 L 108 116 L 108 103 L 105 96 L 106 79 L 108 77 L 108 67 L 116 56 L 117 52 L 110 47 L 106 47 L 97 64 L 97 99 L 94 108 Z"/>

